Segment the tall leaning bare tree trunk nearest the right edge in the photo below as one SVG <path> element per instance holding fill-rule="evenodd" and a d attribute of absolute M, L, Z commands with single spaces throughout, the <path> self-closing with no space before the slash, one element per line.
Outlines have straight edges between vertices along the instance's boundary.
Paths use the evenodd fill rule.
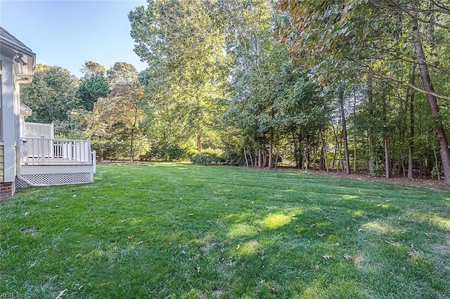
<path fill-rule="evenodd" d="M 411 5 L 411 4 L 410 4 Z M 412 5 L 411 5 L 412 6 Z M 439 140 L 439 152 L 441 154 L 442 167 L 444 168 L 444 182 L 450 185 L 450 150 L 446 140 L 444 126 L 442 120 L 439 117 L 439 107 L 437 105 L 437 99 L 434 93 L 434 88 L 431 84 L 430 72 L 428 71 L 428 65 L 425 61 L 425 53 L 423 53 L 422 42 L 420 40 L 420 32 L 418 28 L 418 22 L 413 19 L 413 37 L 414 37 L 414 53 L 416 54 L 417 64 L 420 69 L 420 76 L 422 77 L 423 89 L 427 91 L 427 100 L 430 105 L 431 114 L 434 118 L 434 128 L 437 139 Z"/>

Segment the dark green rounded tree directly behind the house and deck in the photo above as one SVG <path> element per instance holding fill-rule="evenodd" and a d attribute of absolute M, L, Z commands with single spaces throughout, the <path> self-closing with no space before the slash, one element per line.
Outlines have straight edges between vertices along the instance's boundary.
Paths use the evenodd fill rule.
<path fill-rule="evenodd" d="M 20 88 L 20 100 L 33 111 L 30 121 L 62 124 L 77 107 L 76 92 L 77 78 L 67 69 L 38 64 L 32 83 Z"/>

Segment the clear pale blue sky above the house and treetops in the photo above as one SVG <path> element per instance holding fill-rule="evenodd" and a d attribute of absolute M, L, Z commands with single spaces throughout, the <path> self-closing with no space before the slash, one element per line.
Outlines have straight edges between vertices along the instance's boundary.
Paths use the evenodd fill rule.
<path fill-rule="evenodd" d="M 77 77 L 92 60 L 109 69 L 128 62 L 146 69 L 133 51 L 129 11 L 145 0 L 0 0 L 0 26 L 36 53 L 36 62 Z"/>

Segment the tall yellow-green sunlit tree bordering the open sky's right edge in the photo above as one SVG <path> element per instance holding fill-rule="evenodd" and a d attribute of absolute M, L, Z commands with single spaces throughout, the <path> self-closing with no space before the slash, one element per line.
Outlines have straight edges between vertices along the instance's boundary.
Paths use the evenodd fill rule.
<path fill-rule="evenodd" d="M 134 51 L 158 67 L 164 100 L 188 125 L 198 152 L 221 109 L 223 40 L 213 18 L 212 1 L 200 0 L 149 1 L 129 13 Z"/>

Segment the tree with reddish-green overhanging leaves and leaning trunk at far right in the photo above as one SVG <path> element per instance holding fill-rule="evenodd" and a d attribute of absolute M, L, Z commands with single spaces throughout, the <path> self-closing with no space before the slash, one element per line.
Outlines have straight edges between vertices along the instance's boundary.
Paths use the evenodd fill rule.
<path fill-rule="evenodd" d="M 425 31 L 449 29 L 446 26 L 449 6 L 442 1 L 414 1 L 413 4 L 406 0 L 319 2 L 280 1 L 279 7 L 293 15 L 290 24 L 280 32 L 283 41 L 292 43 L 290 54 L 294 60 L 311 66 L 325 83 L 347 69 L 358 74 L 368 69 L 374 71 L 374 66 L 385 61 L 416 62 L 421 70 L 423 88 L 392 76 L 392 72 L 373 72 L 373 77 L 404 84 L 427 96 L 435 117 L 445 180 L 450 183 L 449 150 L 436 101 L 437 97 L 449 97 L 435 93 L 428 67 L 431 65 L 441 72 L 445 69 L 439 68 L 438 63 L 430 63 L 431 57 L 423 47 L 424 43 L 428 44 L 427 49 L 444 44 L 433 36 L 427 38 L 430 34 Z"/>

